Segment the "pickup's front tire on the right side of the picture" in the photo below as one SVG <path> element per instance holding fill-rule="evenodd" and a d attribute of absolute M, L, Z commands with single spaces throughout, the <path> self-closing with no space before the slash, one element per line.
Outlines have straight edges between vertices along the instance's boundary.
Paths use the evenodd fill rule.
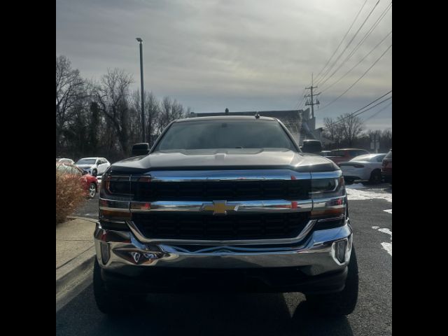
<path fill-rule="evenodd" d="M 348 274 L 342 292 L 307 295 L 311 309 L 323 316 L 344 316 L 353 312 L 358 300 L 358 262 L 355 248 L 351 250 Z"/>

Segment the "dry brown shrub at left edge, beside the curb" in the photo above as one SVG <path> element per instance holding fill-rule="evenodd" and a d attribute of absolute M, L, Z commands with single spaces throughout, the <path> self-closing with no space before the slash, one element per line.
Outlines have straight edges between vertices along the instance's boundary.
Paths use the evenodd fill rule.
<path fill-rule="evenodd" d="M 77 176 L 56 171 L 56 224 L 65 221 L 85 200 L 85 190 Z"/>

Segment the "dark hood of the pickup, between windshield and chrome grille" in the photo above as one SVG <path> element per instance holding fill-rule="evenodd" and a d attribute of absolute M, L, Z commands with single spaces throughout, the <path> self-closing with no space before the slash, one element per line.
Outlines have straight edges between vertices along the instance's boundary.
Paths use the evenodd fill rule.
<path fill-rule="evenodd" d="M 111 165 L 115 174 L 144 174 L 158 170 L 293 169 L 297 172 L 338 170 L 320 155 L 286 149 L 228 149 L 163 151 L 137 156 Z"/>

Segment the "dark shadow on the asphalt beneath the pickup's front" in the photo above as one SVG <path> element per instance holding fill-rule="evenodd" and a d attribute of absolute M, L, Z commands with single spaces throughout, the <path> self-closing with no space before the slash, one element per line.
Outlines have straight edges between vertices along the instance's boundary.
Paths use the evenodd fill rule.
<path fill-rule="evenodd" d="M 314 316 L 297 293 L 153 294 L 111 317 L 98 311 L 92 287 L 86 291 L 57 313 L 57 335 L 353 335 L 346 317 Z M 73 315 L 92 321 L 72 330 Z"/>

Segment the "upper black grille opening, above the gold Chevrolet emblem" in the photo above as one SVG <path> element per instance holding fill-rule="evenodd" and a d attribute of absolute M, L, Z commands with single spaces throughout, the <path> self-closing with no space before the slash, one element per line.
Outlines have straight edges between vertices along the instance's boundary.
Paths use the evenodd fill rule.
<path fill-rule="evenodd" d="M 306 200 L 310 180 L 132 182 L 139 201 Z"/>

